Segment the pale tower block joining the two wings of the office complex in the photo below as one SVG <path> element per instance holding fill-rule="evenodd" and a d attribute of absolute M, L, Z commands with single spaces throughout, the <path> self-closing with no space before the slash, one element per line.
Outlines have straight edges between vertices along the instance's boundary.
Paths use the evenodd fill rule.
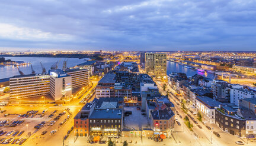
<path fill-rule="evenodd" d="M 62 97 L 71 97 L 72 79 L 71 76 L 61 69 L 50 70 L 50 95 L 53 99 L 59 100 Z"/>

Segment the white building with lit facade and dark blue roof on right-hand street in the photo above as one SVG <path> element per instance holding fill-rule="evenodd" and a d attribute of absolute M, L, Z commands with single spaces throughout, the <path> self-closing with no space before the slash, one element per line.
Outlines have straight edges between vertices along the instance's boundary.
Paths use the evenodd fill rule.
<path fill-rule="evenodd" d="M 215 123 L 215 109 L 220 106 L 218 101 L 209 97 L 196 97 L 196 109 L 201 111 L 204 120 Z"/>

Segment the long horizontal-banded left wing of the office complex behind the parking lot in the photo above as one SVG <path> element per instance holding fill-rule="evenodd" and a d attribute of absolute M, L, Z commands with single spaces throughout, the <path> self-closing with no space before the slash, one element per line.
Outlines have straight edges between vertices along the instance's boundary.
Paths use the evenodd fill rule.
<path fill-rule="evenodd" d="M 9 96 L 15 99 L 47 95 L 49 87 L 49 74 L 17 75 L 9 79 Z"/>

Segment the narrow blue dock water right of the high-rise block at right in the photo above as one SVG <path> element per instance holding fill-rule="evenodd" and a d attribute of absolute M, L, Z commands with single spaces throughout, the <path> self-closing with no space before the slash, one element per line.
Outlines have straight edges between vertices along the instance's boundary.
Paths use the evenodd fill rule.
<path fill-rule="evenodd" d="M 170 74 L 171 72 L 183 72 L 187 74 L 187 76 L 193 76 L 195 74 L 201 75 L 203 77 L 207 78 L 215 78 L 214 74 L 211 74 L 209 72 L 200 72 L 200 71 L 195 71 L 190 68 L 185 68 L 184 65 L 180 65 L 175 62 L 167 61 L 167 74 Z"/>

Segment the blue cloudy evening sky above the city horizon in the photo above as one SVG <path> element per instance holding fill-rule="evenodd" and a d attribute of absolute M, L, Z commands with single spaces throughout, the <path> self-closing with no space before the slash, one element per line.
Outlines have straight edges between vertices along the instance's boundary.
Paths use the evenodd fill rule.
<path fill-rule="evenodd" d="M 0 47 L 256 51 L 255 8 L 255 0 L 4 0 Z"/>

